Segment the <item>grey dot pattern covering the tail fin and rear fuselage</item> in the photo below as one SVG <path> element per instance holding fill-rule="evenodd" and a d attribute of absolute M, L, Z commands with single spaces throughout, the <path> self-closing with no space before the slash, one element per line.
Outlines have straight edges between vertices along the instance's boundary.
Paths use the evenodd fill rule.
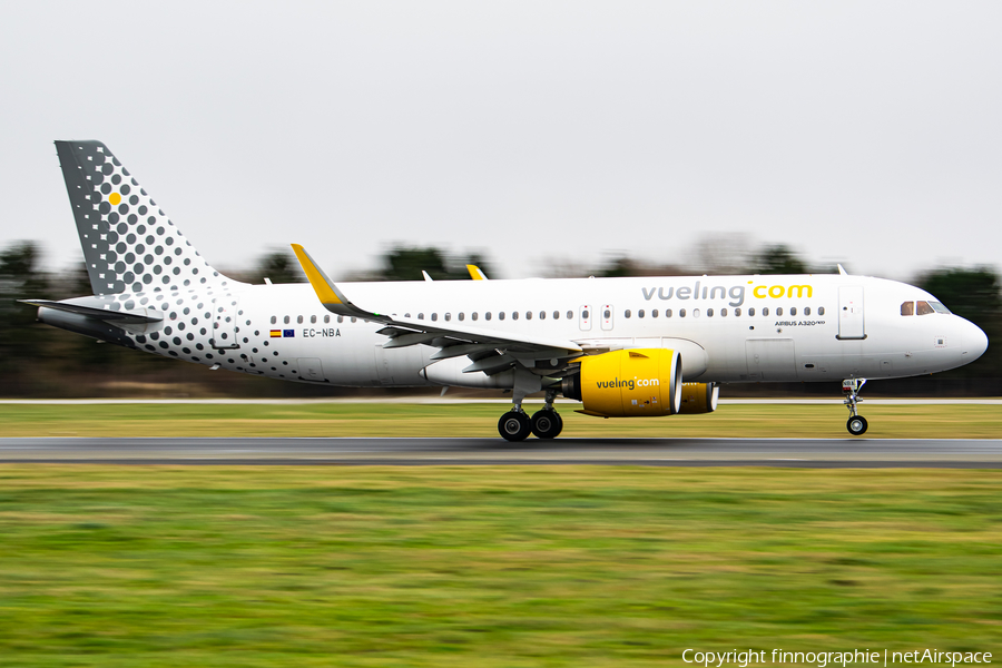
<path fill-rule="evenodd" d="M 298 376 L 274 358 L 281 340 L 272 341 L 242 310 L 250 286 L 206 263 L 104 144 L 57 141 L 57 149 L 92 298 L 112 311 L 163 314 L 159 323 L 126 331 L 136 347 L 230 371 Z"/>

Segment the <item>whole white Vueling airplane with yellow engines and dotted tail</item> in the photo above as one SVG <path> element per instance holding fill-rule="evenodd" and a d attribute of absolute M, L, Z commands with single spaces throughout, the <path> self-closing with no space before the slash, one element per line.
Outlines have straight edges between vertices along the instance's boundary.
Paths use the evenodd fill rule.
<path fill-rule="evenodd" d="M 22 299 L 49 325 L 212 369 L 315 385 L 511 392 L 498 431 L 552 439 L 558 395 L 600 418 L 716 410 L 729 383 L 867 380 L 969 364 L 988 347 L 927 292 L 838 274 L 310 283 L 214 269 L 100 141 L 56 141 L 94 295 Z M 475 269 L 475 271 L 474 271 Z M 531 416 L 527 396 L 543 393 Z"/>

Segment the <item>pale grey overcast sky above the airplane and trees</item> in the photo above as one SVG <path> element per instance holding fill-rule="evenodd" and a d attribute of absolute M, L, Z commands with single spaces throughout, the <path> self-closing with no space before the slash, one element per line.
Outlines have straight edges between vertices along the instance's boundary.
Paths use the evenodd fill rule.
<path fill-rule="evenodd" d="M 734 233 L 999 267 L 1000 33 L 999 2 L 7 2 L 0 246 L 82 257 L 52 140 L 99 139 L 217 267 Z"/>

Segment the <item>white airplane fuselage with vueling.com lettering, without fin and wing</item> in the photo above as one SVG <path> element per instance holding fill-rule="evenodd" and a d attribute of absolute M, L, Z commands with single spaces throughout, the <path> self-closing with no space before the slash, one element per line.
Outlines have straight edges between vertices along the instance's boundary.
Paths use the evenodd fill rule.
<path fill-rule="evenodd" d="M 887 379 L 945 371 L 986 338 L 949 313 L 902 315 L 934 302 L 893 281 L 848 275 L 689 276 L 344 284 L 374 313 L 513 335 L 572 341 L 586 353 L 678 350 L 685 381 Z M 331 314 L 308 284 L 226 281 L 171 293 L 70 299 L 163 314 L 115 328 L 119 343 L 222 369 L 350 386 L 499 386 L 470 360 L 431 362 L 431 345 L 384 348 L 383 325 Z M 40 318 L 68 326 L 47 308 Z M 277 336 L 274 333 L 277 331 Z M 84 332 L 88 333 L 88 332 Z M 223 336 L 225 334 L 225 337 Z M 92 334 L 95 335 L 95 334 Z M 215 345 L 214 345 L 215 343 Z M 236 347 L 223 347 L 236 346 Z M 422 373 L 434 364 L 435 373 Z M 429 380 L 431 379 L 431 380 Z"/>

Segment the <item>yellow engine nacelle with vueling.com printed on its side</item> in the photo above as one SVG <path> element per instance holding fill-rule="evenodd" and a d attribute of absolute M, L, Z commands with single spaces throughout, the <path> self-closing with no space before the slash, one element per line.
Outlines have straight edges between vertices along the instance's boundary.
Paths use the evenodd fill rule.
<path fill-rule="evenodd" d="M 674 415 L 681 407 L 681 356 L 640 348 L 582 357 L 579 374 L 563 379 L 563 395 L 602 418 Z"/>

